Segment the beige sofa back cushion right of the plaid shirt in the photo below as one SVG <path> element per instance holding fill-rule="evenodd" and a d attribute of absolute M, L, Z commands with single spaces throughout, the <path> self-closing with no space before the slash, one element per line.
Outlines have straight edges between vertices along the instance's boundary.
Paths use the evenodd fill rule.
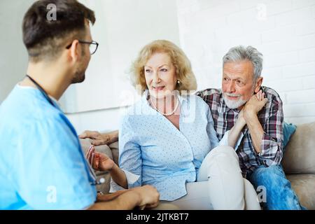
<path fill-rule="evenodd" d="M 315 174 L 315 122 L 297 125 L 283 155 L 286 174 Z"/>

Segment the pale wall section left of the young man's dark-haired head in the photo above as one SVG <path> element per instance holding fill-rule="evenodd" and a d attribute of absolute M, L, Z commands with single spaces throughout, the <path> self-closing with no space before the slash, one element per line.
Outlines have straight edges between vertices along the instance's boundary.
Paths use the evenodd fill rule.
<path fill-rule="evenodd" d="M 0 104 L 27 70 L 27 50 L 22 42 L 22 20 L 34 1 L 0 1 Z"/>

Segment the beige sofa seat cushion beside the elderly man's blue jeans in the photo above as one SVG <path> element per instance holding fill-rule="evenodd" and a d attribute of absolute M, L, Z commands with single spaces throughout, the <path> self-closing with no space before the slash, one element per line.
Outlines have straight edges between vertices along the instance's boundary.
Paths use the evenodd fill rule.
<path fill-rule="evenodd" d="M 290 174 L 286 178 L 291 182 L 302 206 L 315 209 L 315 174 Z"/>

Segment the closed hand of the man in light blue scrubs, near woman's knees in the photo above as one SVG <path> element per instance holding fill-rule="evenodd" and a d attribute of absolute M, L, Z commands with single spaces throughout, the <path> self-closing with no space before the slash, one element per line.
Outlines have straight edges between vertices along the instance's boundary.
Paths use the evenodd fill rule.
<path fill-rule="evenodd" d="M 160 202 L 160 194 L 158 193 L 158 190 L 154 188 L 153 186 L 146 185 L 142 187 L 132 188 L 130 190 L 133 190 L 134 192 L 139 194 L 139 197 L 141 199 L 138 207 L 140 209 L 151 209 L 158 206 Z"/>

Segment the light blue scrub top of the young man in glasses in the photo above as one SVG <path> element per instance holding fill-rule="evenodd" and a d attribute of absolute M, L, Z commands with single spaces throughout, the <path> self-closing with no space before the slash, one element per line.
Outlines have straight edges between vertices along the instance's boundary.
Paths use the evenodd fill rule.
<path fill-rule="evenodd" d="M 93 176 L 55 101 L 16 85 L 0 106 L 0 209 L 86 209 Z"/>

